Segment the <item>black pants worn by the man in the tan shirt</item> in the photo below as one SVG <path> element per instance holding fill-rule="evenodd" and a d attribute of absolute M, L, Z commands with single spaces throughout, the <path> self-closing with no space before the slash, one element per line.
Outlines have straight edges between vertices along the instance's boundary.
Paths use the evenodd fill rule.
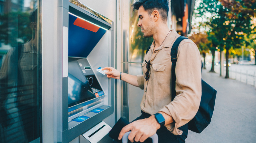
<path fill-rule="evenodd" d="M 151 115 L 141 111 L 141 115 L 133 121 L 139 119 L 149 118 Z M 185 139 L 187 138 L 188 133 L 188 124 L 181 126 L 178 128 L 179 130 L 183 131 L 182 135 L 173 135 L 170 131 L 166 129 L 166 127 L 161 127 L 157 130 L 158 135 L 158 142 L 159 143 L 184 143 Z M 146 141 L 145 141 L 146 142 Z"/>

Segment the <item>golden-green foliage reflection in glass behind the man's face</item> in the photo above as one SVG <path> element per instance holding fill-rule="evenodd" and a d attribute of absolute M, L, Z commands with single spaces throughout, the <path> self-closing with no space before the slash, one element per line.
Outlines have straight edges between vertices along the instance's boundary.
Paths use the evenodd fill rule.
<path fill-rule="evenodd" d="M 130 0 L 130 7 L 138 0 Z M 133 7 L 132 7 L 133 8 Z M 143 62 L 147 48 L 153 42 L 153 38 L 144 38 L 139 26 L 138 10 L 137 13 L 130 9 L 130 62 Z"/>

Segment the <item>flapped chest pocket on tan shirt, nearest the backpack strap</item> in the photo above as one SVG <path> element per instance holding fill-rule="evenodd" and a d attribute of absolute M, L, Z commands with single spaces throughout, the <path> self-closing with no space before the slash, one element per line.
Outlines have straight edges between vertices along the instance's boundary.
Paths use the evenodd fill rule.
<path fill-rule="evenodd" d="M 152 64 L 151 78 L 155 85 L 164 84 L 165 79 L 165 65 Z"/>

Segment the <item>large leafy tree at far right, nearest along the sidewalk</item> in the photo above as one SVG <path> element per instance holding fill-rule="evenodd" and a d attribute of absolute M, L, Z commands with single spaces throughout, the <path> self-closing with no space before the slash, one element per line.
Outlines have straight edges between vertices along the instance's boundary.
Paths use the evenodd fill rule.
<path fill-rule="evenodd" d="M 226 63 L 229 50 L 241 48 L 245 35 L 252 31 L 251 17 L 256 15 L 255 8 L 256 0 L 202 0 L 197 8 L 196 16 L 207 19 L 206 24 L 218 46 L 226 49 Z M 225 78 L 229 78 L 228 66 Z"/>

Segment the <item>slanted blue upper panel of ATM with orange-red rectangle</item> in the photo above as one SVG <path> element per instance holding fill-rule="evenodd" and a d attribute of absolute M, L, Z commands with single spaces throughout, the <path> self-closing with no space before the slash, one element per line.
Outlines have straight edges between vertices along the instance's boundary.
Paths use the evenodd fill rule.
<path fill-rule="evenodd" d="M 87 57 L 106 30 L 69 14 L 69 56 Z"/>

